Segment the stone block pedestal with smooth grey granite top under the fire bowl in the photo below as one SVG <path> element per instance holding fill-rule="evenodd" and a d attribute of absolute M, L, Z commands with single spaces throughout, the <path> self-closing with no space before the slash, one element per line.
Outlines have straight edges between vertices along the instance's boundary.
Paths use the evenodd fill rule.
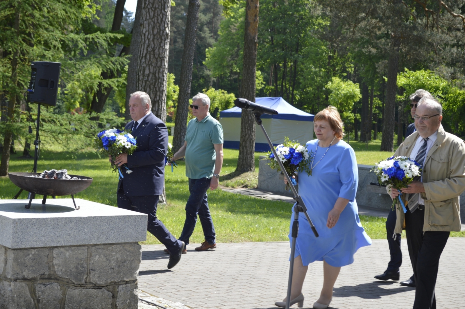
<path fill-rule="evenodd" d="M 27 202 L 0 200 L 0 309 L 137 309 L 145 214 Z"/>

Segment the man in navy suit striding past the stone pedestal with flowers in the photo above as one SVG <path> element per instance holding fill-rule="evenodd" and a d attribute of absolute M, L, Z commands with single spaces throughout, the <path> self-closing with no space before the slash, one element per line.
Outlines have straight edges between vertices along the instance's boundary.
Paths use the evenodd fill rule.
<path fill-rule="evenodd" d="M 165 158 L 168 147 L 166 125 L 151 112 L 152 103 L 145 92 L 134 92 L 129 99 L 132 121 L 126 131 L 136 137 L 137 148 L 130 156 L 118 155 L 115 164 L 126 164 L 132 171 L 121 169 L 124 178 L 118 183 L 118 207 L 145 213 L 148 216 L 147 230 L 157 237 L 170 252 L 168 269 L 181 259 L 185 243 L 177 240 L 157 218 L 159 195 L 165 183 Z"/>

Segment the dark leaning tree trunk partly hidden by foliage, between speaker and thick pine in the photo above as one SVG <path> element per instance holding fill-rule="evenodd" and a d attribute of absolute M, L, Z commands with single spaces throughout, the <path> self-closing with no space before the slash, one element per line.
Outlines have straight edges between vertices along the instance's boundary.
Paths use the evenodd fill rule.
<path fill-rule="evenodd" d="M 121 21 L 123 20 L 123 12 L 124 12 L 124 4 L 126 0 L 117 0 L 115 12 L 113 15 L 113 24 L 112 24 L 112 31 L 118 31 L 121 29 Z M 100 77 L 102 79 L 114 79 L 116 77 L 115 72 L 106 72 L 102 71 L 100 73 Z M 94 93 L 92 98 L 92 103 L 90 105 L 90 109 L 93 112 L 101 113 L 103 111 L 103 107 L 105 106 L 106 99 L 110 96 L 110 92 L 112 92 L 112 86 L 104 86 L 102 83 L 99 83 L 97 92 Z M 95 120 L 98 120 L 99 117 L 95 117 Z"/>

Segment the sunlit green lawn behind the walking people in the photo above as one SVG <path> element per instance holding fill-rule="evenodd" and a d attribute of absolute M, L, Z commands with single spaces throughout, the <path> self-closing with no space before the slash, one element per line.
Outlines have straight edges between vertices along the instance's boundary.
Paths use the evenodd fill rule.
<path fill-rule="evenodd" d="M 171 141 L 171 137 L 170 137 Z M 364 143 L 351 142 L 360 164 L 370 164 L 387 158 L 390 153 L 374 151 L 379 149 L 377 143 L 372 143 L 365 149 Z M 17 146 L 20 149 L 19 146 Z M 371 150 L 371 151 L 370 151 Z M 256 185 L 258 176 L 258 157 L 263 153 L 255 154 L 256 171 L 237 177 L 231 176 L 237 164 L 237 150 L 224 151 L 224 164 L 222 181 L 220 184 L 228 186 Z M 33 159 L 19 158 L 20 154 L 12 155 L 10 171 L 31 171 Z M 184 224 L 188 194 L 185 165 L 179 161 L 179 167 L 171 172 L 166 168 L 166 195 L 167 205 L 160 205 L 159 218 L 166 227 L 179 237 Z M 89 176 L 94 178 L 93 184 L 85 191 L 76 195 L 94 202 L 116 206 L 116 186 L 118 177 L 112 173 L 106 158 L 100 158 L 92 150 L 71 153 L 66 151 L 42 150 L 38 162 L 38 171 L 66 168 L 68 173 Z M 228 177 L 228 174 L 230 176 Z M 18 188 L 7 177 L 0 178 L 0 198 L 12 198 Z M 289 222 L 292 205 L 285 202 L 267 201 L 259 198 L 234 194 L 222 190 L 208 191 L 208 201 L 215 224 L 218 242 L 256 242 L 256 241 L 286 241 L 289 231 Z M 20 198 L 27 198 L 23 192 Z M 378 217 L 360 216 L 367 234 L 373 239 L 384 239 L 385 219 Z M 465 232 L 452 233 L 452 236 L 465 236 Z M 200 243 L 204 240 L 200 224 L 194 230 L 191 242 Z M 147 234 L 145 244 L 158 243 L 150 234 Z"/>

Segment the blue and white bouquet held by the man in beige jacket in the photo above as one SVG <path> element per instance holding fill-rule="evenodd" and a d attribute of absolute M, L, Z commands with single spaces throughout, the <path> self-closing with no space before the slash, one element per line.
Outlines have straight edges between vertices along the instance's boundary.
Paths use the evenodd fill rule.
<path fill-rule="evenodd" d="M 407 212 L 404 202 L 402 201 L 402 193 L 400 189 L 406 188 L 412 183 L 413 178 L 421 175 L 421 165 L 412 158 L 399 156 L 387 158 L 387 160 L 379 161 L 372 168 L 372 171 L 378 176 L 380 185 L 391 185 L 391 190 L 399 191 L 400 195 L 392 201 L 392 207 L 395 204 L 402 205 L 404 212 Z"/>

